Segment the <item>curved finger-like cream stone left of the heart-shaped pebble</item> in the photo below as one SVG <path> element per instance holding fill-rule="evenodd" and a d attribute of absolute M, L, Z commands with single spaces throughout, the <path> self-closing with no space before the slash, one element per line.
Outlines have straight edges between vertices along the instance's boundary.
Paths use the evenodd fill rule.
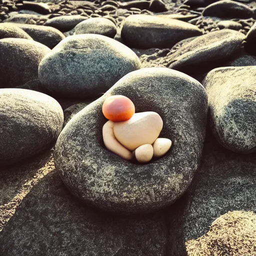
<path fill-rule="evenodd" d="M 121 145 L 115 138 L 113 132 L 114 122 L 107 121 L 102 128 L 103 141 L 107 149 L 118 154 L 126 160 L 132 159 L 132 152 Z"/>

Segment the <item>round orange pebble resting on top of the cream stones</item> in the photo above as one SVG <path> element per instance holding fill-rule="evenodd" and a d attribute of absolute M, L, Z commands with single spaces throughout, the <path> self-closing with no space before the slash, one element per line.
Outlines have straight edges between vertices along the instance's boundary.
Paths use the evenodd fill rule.
<path fill-rule="evenodd" d="M 129 98 L 113 95 L 105 99 L 102 112 L 107 119 L 121 122 L 128 120 L 135 113 L 135 106 Z"/>

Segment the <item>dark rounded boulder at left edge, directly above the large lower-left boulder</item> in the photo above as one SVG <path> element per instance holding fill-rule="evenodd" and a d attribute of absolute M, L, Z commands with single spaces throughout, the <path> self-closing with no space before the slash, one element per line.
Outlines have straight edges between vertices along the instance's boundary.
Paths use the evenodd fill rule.
<path fill-rule="evenodd" d="M 23 38 L 0 39 L 0 88 L 15 87 L 38 78 L 38 65 L 50 49 Z"/>

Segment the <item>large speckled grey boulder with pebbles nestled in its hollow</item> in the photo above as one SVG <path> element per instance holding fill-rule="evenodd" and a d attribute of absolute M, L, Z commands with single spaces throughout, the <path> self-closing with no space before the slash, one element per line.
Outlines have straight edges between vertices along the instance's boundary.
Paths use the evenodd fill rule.
<path fill-rule="evenodd" d="M 101 108 L 110 95 L 130 98 L 137 112 L 157 112 L 163 120 L 160 136 L 171 139 L 171 150 L 142 165 L 108 151 Z M 206 112 L 206 92 L 190 76 L 160 67 L 130 72 L 66 124 L 55 146 L 56 169 L 69 190 L 94 207 L 138 213 L 170 205 L 198 167 Z"/>

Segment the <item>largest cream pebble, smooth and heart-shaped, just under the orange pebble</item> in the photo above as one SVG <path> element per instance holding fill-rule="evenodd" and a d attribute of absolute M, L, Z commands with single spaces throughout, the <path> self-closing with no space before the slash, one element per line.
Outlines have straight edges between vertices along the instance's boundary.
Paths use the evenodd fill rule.
<path fill-rule="evenodd" d="M 113 125 L 114 136 L 129 150 L 143 144 L 152 144 L 161 129 L 162 118 L 152 111 L 134 113 L 129 120 L 115 122 Z"/>

